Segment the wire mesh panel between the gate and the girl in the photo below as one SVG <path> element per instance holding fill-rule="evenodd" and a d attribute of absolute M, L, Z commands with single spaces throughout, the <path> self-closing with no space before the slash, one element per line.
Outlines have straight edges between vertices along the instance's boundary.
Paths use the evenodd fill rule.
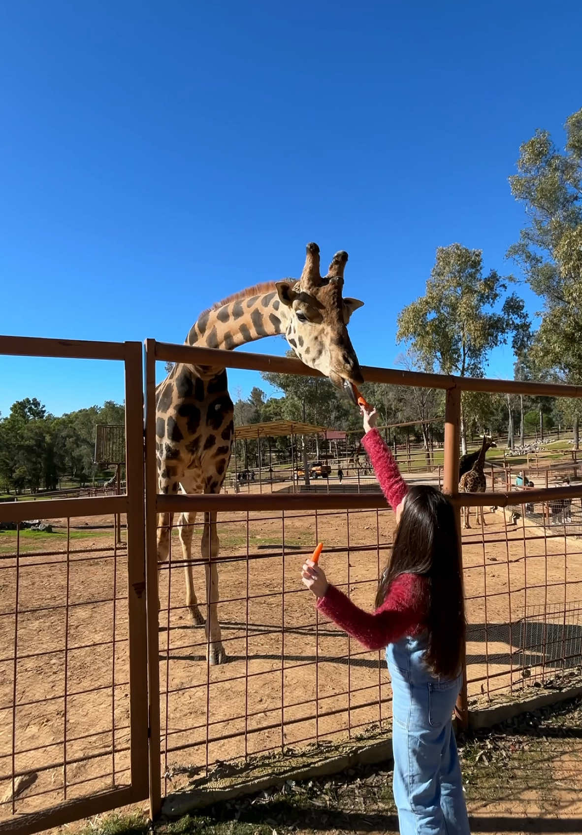
<path fill-rule="evenodd" d="M 301 566 L 325 542 L 326 574 L 370 608 L 392 543 L 388 510 L 220 514 L 217 559 L 221 640 L 228 663 L 211 666 L 204 625 L 185 602 L 180 524 L 162 564 L 160 728 L 163 792 L 184 775 L 289 747 L 351 736 L 391 716 L 384 661 L 322 618 L 301 584 Z M 193 579 L 205 601 L 202 525 L 195 526 Z"/>

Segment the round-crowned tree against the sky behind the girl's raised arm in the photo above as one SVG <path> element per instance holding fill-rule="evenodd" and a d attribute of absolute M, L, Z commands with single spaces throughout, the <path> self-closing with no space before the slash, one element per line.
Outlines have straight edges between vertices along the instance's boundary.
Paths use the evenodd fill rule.
<path fill-rule="evenodd" d="M 483 377 L 493 347 L 511 337 L 518 350 L 529 336 L 524 301 L 508 294 L 512 281 L 495 270 L 483 276 L 481 250 L 460 244 L 438 247 L 425 295 L 398 316 L 397 342 L 406 342 L 431 370 Z M 463 454 L 465 423 L 462 409 Z"/>

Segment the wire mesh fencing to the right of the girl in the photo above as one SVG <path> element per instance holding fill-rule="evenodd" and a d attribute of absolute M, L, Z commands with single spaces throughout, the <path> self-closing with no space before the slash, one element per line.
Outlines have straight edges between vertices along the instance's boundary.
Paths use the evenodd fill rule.
<path fill-rule="evenodd" d="M 554 501 L 569 503 L 571 519 L 561 511 L 560 524 L 551 524 L 551 510 L 544 510 L 551 503 L 508 504 L 486 509 L 486 524 L 463 530 L 468 696 L 474 705 L 534 684 L 554 686 L 579 666 L 573 647 L 582 540 L 575 520 L 582 509 L 580 498 Z"/>

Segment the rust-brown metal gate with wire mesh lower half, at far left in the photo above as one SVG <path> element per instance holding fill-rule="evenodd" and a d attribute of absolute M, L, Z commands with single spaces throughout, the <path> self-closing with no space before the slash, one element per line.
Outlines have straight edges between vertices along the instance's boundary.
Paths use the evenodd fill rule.
<path fill-rule="evenodd" d="M 23 835 L 148 797 L 142 347 L 0 337 L 0 354 L 124 372 L 127 492 L 0 501 L 0 832 Z"/>

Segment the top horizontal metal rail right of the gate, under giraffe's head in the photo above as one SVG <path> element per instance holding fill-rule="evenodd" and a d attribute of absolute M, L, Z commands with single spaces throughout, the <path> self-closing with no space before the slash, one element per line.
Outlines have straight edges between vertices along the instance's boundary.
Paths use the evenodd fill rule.
<path fill-rule="evenodd" d="M 154 342 L 156 360 L 185 362 L 190 365 L 206 365 L 217 368 L 243 368 L 247 371 L 299 374 L 305 377 L 325 377 L 314 368 L 307 367 L 293 357 L 272 357 L 269 354 L 251 354 L 244 351 L 223 351 L 218 348 L 199 348 L 175 345 L 171 342 Z M 418 386 L 421 388 L 458 388 L 464 392 L 502 392 L 531 394 L 547 397 L 582 397 L 582 386 L 558 382 L 524 382 L 520 380 L 492 380 L 488 377 L 454 377 L 451 374 L 428 374 L 404 371 L 397 368 L 362 366 L 367 382 L 385 382 L 392 386 Z"/>

